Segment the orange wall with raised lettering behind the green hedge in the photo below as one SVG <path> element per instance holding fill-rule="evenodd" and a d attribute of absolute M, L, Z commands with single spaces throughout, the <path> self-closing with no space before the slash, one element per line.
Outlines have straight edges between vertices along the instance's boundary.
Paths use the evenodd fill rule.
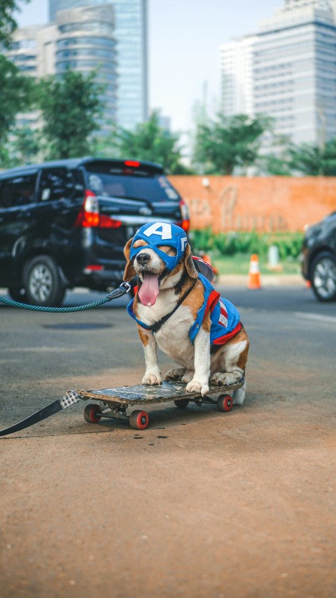
<path fill-rule="evenodd" d="M 205 187 L 202 182 L 209 181 Z M 219 231 L 302 231 L 336 210 L 336 177 L 197 177 L 169 180 L 186 200 L 191 226 Z"/>

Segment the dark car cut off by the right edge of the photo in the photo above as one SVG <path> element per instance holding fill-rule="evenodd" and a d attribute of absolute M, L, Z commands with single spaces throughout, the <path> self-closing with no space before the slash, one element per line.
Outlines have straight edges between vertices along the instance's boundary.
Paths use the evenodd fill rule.
<path fill-rule="evenodd" d="M 302 275 L 319 301 L 336 299 L 336 212 L 309 226 L 302 247 Z"/>

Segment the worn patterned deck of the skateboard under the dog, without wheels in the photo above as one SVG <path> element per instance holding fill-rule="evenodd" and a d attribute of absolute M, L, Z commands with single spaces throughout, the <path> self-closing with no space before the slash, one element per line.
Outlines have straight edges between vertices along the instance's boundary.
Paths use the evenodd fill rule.
<path fill-rule="evenodd" d="M 78 396 L 83 399 L 94 399 L 106 403 L 120 403 L 121 405 L 150 405 L 151 403 L 164 403 L 176 400 L 207 402 L 207 397 L 214 394 L 230 393 L 243 386 L 241 380 L 230 386 L 212 386 L 206 396 L 200 393 L 186 393 L 186 383 L 183 382 L 162 382 L 160 385 L 148 386 L 138 384 L 137 386 L 118 386 L 116 388 L 104 388 L 103 390 L 76 390 Z M 211 401 L 212 402 L 212 401 Z"/>

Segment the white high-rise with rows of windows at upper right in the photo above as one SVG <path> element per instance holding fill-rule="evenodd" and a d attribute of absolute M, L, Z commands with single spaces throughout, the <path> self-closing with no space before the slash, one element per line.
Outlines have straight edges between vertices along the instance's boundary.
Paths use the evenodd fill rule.
<path fill-rule="evenodd" d="M 222 81 L 230 74 L 234 83 L 230 88 L 223 83 L 223 110 L 239 106 L 239 111 L 251 116 L 272 116 L 275 132 L 295 143 L 321 143 L 336 137 L 332 8 L 336 8 L 335 0 L 284 0 L 272 18 L 260 23 L 258 32 L 232 42 L 233 52 L 225 44 L 221 48 Z M 229 71 L 230 52 L 235 67 Z"/>

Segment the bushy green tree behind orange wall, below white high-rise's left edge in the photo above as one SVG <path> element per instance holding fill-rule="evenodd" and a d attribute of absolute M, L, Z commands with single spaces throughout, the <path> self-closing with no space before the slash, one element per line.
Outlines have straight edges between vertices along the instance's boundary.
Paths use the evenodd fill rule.
<path fill-rule="evenodd" d="M 202 165 L 203 174 L 231 175 L 235 167 L 255 162 L 260 137 L 269 126 L 265 116 L 218 114 L 197 126 L 193 161 Z"/>

